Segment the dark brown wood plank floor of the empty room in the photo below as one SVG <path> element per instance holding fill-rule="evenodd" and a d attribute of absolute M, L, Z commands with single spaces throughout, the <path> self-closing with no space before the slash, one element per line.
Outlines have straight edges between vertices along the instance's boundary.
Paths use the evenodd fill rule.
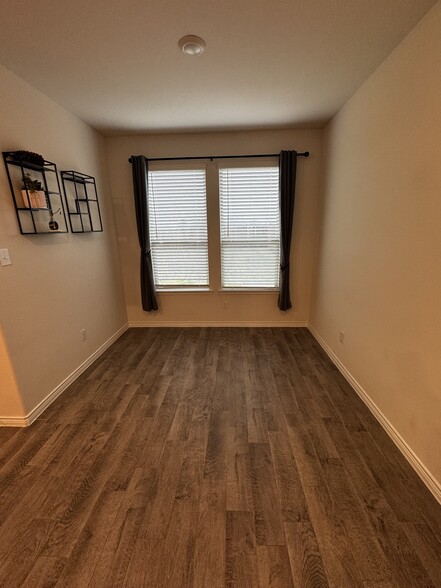
<path fill-rule="evenodd" d="M 131 329 L 0 429 L 0 586 L 441 586 L 441 507 L 306 329 Z"/>

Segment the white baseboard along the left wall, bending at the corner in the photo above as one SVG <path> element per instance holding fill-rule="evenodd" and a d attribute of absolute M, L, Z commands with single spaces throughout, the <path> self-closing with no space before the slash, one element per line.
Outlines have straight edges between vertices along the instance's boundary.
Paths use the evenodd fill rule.
<path fill-rule="evenodd" d="M 50 392 L 29 414 L 24 417 L 0 417 L 0 427 L 28 427 L 31 425 L 52 402 L 68 388 L 100 355 L 108 349 L 121 335 L 127 331 L 129 325 L 126 323 L 123 327 L 110 337 L 101 347 L 99 347 L 86 361 L 77 367 L 67 378 L 65 378 L 56 388 Z"/>

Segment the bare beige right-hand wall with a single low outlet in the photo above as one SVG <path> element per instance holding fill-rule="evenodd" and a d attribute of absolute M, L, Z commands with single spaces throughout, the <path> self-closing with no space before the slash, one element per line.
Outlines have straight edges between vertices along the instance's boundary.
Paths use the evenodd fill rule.
<path fill-rule="evenodd" d="M 313 327 L 438 480 L 440 32 L 438 3 L 326 129 L 311 308 Z"/>

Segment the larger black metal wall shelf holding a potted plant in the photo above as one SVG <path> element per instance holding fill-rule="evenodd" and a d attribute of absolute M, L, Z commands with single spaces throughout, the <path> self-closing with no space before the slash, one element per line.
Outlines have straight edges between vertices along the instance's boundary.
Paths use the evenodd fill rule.
<path fill-rule="evenodd" d="M 4 151 L 3 160 L 22 235 L 67 233 L 55 163 L 32 151 Z"/>

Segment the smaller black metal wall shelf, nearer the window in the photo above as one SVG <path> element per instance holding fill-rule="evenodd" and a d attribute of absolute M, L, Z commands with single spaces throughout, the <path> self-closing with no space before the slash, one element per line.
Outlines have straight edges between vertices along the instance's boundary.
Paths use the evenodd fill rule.
<path fill-rule="evenodd" d="M 95 178 L 81 172 L 61 172 L 72 233 L 98 233 L 103 230 Z"/>

